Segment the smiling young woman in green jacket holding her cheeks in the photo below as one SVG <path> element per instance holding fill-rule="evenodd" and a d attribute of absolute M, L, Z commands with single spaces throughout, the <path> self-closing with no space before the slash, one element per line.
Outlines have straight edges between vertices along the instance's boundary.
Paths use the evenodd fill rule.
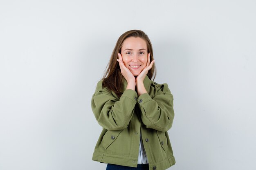
<path fill-rule="evenodd" d="M 175 164 L 168 137 L 173 123 L 173 95 L 157 84 L 148 36 L 140 30 L 122 34 L 103 79 L 92 96 L 92 111 L 103 127 L 92 160 L 107 170 L 165 170 Z"/>

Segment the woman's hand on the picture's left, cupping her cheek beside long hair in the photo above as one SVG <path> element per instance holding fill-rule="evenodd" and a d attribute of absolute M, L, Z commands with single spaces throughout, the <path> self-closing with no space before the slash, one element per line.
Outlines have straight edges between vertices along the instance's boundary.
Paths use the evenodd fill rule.
<path fill-rule="evenodd" d="M 117 61 L 119 62 L 121 73 L 127 81 L 126 89 L 135 90 L 135 86 L 136 86 L 135 77 L 134 75 L 132 75 L 132 72 L 130 72 L 130 70 L 126 68 L 126 66 L 124 65 L 123 58 L 120 53 L 118 53 Z"/>

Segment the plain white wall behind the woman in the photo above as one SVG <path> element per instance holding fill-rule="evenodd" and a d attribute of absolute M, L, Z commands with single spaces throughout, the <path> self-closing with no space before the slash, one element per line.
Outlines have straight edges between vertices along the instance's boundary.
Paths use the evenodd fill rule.
<path fill-rule="evenodd" d="M 169 170 L 255 170 L 255 0 L 1 0 L 0 170 L 104 170 L 91 97 L 145 31 L 174 96 Z"/>

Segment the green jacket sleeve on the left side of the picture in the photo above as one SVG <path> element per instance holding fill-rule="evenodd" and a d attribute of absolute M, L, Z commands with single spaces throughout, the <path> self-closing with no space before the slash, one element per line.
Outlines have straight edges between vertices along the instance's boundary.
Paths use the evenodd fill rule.
<path fill-rule="evenodd" d="M 101 80 L 92 95 L 92 112 L 103 128 L 121 130 L 127 128 L 132 118 L 137 97 L 135 91 L 127 89 L 118 99 L 107 88 L 102 88 Z"/>

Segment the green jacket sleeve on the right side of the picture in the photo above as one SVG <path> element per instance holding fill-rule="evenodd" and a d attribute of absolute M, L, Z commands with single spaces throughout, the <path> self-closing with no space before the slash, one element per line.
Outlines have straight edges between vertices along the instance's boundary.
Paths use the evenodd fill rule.
<path fill-rule="evenodd" d="M 148 93 L 144 93 L 137 101 L 141 110 L 141 120 L 147 128 L 162 132 L 171 128 L 174 118 L 173 95 L 166 83 L 162 84 L 153 99 Z"/>

